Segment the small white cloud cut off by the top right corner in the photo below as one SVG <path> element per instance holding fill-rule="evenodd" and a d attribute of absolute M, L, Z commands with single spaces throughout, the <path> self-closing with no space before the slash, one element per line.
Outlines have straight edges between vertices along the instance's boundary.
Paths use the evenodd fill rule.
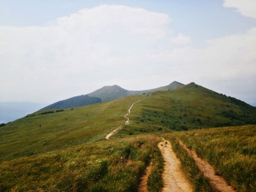
<path fill-rule="evenodd" d="M 234 7 L 242 15 L 256 19 L 256 0 L 224 0 L 224 7 Z"/>

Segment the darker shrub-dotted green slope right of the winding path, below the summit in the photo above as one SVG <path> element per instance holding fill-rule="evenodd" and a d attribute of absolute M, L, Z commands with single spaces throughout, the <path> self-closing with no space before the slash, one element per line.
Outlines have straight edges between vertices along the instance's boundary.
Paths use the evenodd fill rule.
<path fill-rule="evenodd" d="M 131 122 L 122 131 L 135 134 L 252 125 L 255 117 L 256 107 L 190 83 L 136 103 L 129 115 Z"/>

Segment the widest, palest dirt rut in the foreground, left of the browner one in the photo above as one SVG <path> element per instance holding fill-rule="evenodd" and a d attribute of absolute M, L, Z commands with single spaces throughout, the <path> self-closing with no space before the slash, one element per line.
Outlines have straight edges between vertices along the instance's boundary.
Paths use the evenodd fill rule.
<path fill-rule="evenodd" d="M 165 161 L 162 192 L 192 192 L 192 185 L 181 170 L 180 160 L 172 150 L 170 142 L 163 139 L 158 147 Z"/>

